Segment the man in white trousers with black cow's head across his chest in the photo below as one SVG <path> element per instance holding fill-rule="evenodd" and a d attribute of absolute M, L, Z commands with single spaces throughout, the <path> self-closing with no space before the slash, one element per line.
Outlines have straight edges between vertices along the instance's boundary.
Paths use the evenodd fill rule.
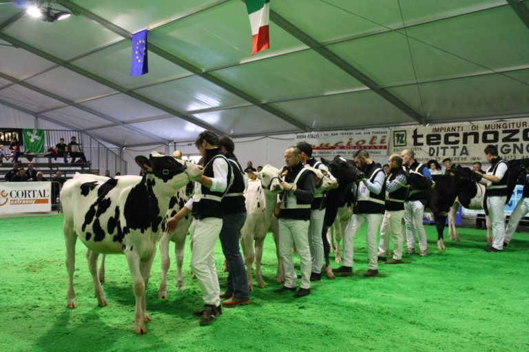
<path fill-rule="evenodd" d="M 402 158 L 402 165 L 406 169 L 406 173 L 417 172 L 422 176 L 432 180 L 430 170 L 426 165 L 415 161 L 415 153 L 411 149 L 404 149 L 400 157 Z M 419 242 L 419 256 L 428 255 L 428 240 L 426 239 L 426 230 L 422 224 L 422 216 L 424 215 L 424 205 L 426 205 L 426 194 L 422 189 L 408 189 L 408 196 L 404 201 L 404 222 L 406 223 L 406 242 L 407 253 L 415 253 L 415 234 L 417 230 L 417 240 Z"/>

